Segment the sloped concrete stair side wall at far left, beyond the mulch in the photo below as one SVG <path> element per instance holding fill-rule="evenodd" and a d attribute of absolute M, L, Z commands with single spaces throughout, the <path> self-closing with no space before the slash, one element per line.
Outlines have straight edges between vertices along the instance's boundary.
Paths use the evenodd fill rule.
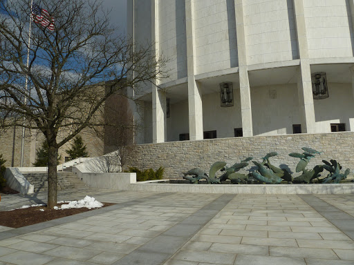
<path fill-rule="evenodd" d="M 23 195 L 34 193 L 35 187 L 28 182 L 18 168 L 6 168 L 5 179 L 12 190 L 17 190 Z"/>

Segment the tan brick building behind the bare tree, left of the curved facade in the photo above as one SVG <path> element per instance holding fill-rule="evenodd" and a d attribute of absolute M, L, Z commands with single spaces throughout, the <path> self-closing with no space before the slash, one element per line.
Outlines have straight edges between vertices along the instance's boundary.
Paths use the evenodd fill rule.
<path fill-rule="evenodd" d="M 95 90 L 101 90 L 104 93 L 106 86 L 100 84 L 92 87 Z M 122 94 L 122 95 L 120 95 Z M 119 93 L 111 95 L 102 110 L 96 113 L 97 121 L 105 121 L 106 124 L 112 126 L 100 126 L 93 128 L 85 128 L 80 132 L 80 136 L 86 146 L 86 151 L 89 157 L 98 157 L 106 153 L 111 153 L 117 150 L 119 146 L 131 144 L 132 129 L 131 111 L 129 109 L 129 101 L 124 95 L 127 94 L 127 88 L 123 88 Z M 58 141 L 62 141 L 71 133 L 73 128 L 64 128 L 59 131 L 57 136 Z M 21 166 L 21 139 L 22 128 L 14 126 L 8 128 L 5 132 L 0 133 L 0 155 L 6 159 L 5 166 Z M 37 130 L 26 129 L 24 133 L 24 166 L 33 166 L 36 159 L 36 152 L 41 148 L 45 137 L 43 133 Z M 59 148 L 59 164 L 64 163 L 69 159 L 66 150 L 71 148 L 74 139 L 68 141 Z"/>

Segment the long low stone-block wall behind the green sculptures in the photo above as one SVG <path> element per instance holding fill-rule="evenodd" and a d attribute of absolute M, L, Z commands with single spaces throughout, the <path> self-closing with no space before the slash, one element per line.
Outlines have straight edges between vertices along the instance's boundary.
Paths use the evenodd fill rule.
<path fill-rule="evenodd" d="M 323 152 L 311 159 L 308 168 L 323 164 L 322 159 L 336 159 L 343 168 L 350 168 L 354 173 L 354 133 L 322 133 L 278 135 L 264 137 L 234 137 L 223 139 L 207 139 L 201 141 L 173 141 L 161 144 L 142 144 L 134 146 L 130 157 L 127 157 L 129 166 L 141 169 L 160 166 L 165 167 L 165 178 L 177 178 L 181 173 L 191 168 L 203 168 L 206 172 L 215 161 L 226 161 L 227 166 L 252 156 L 254 160 L 261 161 L 261 157 L 270 152 L 279 155 L 271 158 L 274 166 L 288 166 L 291 172 L 299 159 L 288 154 L 302 153 L 302 147 L 310 147 Z M 250 166 L 245 170 L 247 172 Z M 299 175 L 299 174 L 294 174 Z"/>

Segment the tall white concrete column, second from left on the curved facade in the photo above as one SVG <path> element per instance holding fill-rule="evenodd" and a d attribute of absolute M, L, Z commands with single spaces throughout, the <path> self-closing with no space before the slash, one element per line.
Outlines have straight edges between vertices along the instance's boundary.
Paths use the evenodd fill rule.
<path fill-rule="evenodd" d="M 185 1 L 185 25 L 187 35 L 188 116 L 189 139 L 203 139 L 203 103 L 201 86 L 196 82 L 194 42 L 194 0 Z"/>

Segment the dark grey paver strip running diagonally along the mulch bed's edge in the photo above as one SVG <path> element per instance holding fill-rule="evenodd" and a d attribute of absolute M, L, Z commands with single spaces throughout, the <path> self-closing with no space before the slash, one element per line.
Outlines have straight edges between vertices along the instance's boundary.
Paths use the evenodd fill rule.
<path fill-rule="evenodd" d="M 166 195 L 171 195 L 171 194 L 174 194 L 174 193 L 158 193 L 157 195 L 153 194 L 151 196 L 144 197 L 144 199 L 136 199 L 136 200 L 133 200 L 133 201 L 130 201 L 130 202 L 118 203 L 118 204 L 115 204 L 115 205 L 112 205 L 112 206 L 107 206 L 107 207 L 99 208 L 99 209 L 96 209 L 96 210 L 90 210 L 90 211 L 85 212 L 85 213 L 79 213 L 77 215 L 71 215 L 71 216 L 62 217 L 62 218 L 59 218 L 59 219 L 50 220 L 50 221 L 47 221 L 47 222 L 42 222 L 42 223 L 39 223 L 39 224 L 33 224 L 32 226 L 24 226 L 24 227 L 21 227 L 21 228 L 15 228 L 15 229 L 11 229 L 11 230 L 6 230 L 6 231 L 3 231 L 3 232 L 0 232 L 0 241 L 4 240 L 4 239 L 10 239 L 12 237 L 17 237 L 19 235 L 26 235 L 28 233 L 32 233 L 32 232 L 36 232 L 36 231 L 42 230 L 42 229 L 44 229 L 43 226 L 46 226 L 45 228 L 49 228 L 49 227 L 53 227 L 53 226 L 58 226 L 60 224 L 67 224 L 69 222 L 73 222 L 73 221 L 77 221 L 77 220 L 80 220 L 80 219 L 84 219 L 86 217 L 90 217 L 90 216 L 93 216 L 93 215 L 99 215 L 101 213 L 107 213 L 107 212 L 110 212 L 112 210 L 118 210 L 120 208 L 125 208 L 125 207 L 131 206 L 133 204 L 139 204 L 139 203 L 145 202 L 146 199 L 153 199 L 154 197 L 156 197 L 156 198 L 164 197 Z"/>

